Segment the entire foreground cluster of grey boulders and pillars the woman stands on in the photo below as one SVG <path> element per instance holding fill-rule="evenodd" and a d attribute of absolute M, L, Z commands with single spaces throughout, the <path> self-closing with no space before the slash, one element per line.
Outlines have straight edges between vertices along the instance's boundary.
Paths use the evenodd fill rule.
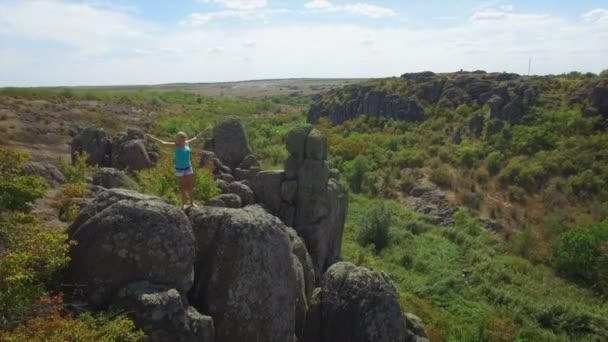
<path fill-rule="evenodd" d="M 240 123 L 220 127 L 203 161 L 225 191 L 212 205 L 102 188 L 83 207 L 68 230 L 77 296 L 150 341 L 426 341 L 385 274 L 336 263 L 348 194 L 325 137 L 294 129 L 285 171 L 261 171 L 244 133 L 217 147 Z"/>

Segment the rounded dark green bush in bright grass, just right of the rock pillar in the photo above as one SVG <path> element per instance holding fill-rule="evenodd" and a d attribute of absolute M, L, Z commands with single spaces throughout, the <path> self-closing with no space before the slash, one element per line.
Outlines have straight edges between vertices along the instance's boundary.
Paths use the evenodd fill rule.
<path fill-rule="evenodd" d="M 376 252 L 388 245 L 392 210 L 386 202 L 373 206 L 359 226 L 359 243 L 363 246 L 373 244 Z"/>

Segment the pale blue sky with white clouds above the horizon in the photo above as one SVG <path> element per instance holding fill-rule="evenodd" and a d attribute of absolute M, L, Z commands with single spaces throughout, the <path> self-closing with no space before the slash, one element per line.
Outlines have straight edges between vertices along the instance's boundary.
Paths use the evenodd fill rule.
<path fill-rule="evenodd" d="M 0 87 L 608 69 L 608 0 L 0 0 Z"/>

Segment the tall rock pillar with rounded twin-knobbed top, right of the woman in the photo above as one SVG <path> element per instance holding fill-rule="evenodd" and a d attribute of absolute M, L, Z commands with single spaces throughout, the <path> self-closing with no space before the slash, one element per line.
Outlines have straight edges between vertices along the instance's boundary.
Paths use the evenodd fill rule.
<path fill-rule="evenodd" d="M 330 178 L 320 131 L 296 127 L 287 134 L 286 147 L 285 171 L 260 172 L 253 190 L 259 203 L 304 239 L 320 276 L 340 255 L 348 193 Z"/>

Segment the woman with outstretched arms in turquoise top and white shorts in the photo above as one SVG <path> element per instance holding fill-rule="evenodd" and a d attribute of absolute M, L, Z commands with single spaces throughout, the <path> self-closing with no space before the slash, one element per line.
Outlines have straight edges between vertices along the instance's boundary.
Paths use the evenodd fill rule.
<path fill-rule="evenodd" d="M 192 150 L 190 143 L 198 139 L 201 135 L 209 130 L 206 129 L 196 135 L 192 139 L 188 139 L 188 135 L 184 132 L 178 132 L 175 142 L 160 140 L 150 134 L 147 134 L 151 139 L 155 140 L 161 146 L 175 147 L 175 176 L 177 177 L 177 185 L 179 187 L 179 197 L 182 208 L 186 208 L 186 203 L 196 207 L 194 203 L 194 170 L 192 169 Z"/>

